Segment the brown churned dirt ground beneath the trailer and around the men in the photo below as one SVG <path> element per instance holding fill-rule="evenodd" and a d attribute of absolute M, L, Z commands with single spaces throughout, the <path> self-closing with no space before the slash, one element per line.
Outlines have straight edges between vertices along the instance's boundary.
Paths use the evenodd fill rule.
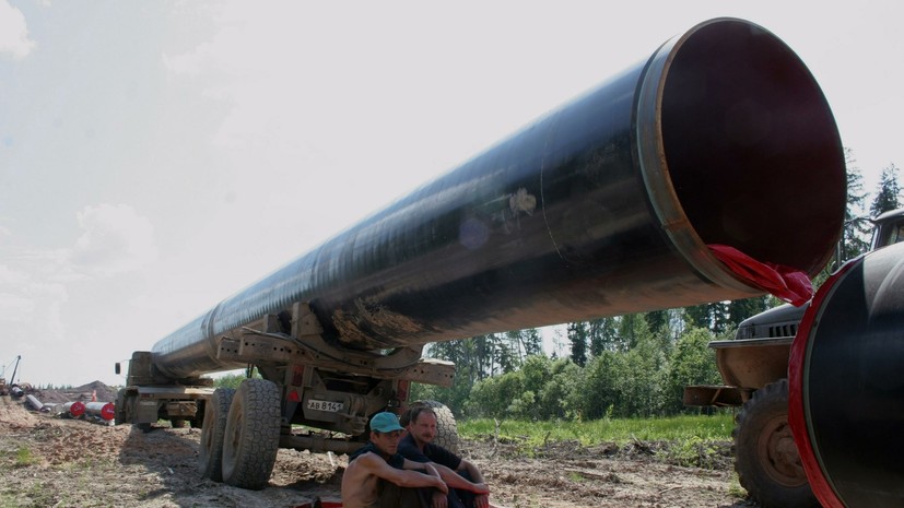
<path fill-rule="evenodd" d="M 104 389 L 42 397 L 75 400 L 98 392 L 105 401 Z M 269 486 L 245 491 L 201 479 L 200 429 L 145 434 L 131 425 L 30 411 L 23 402 L 0 397 L 0 507 L 294 508 L 315 496 L 339 501 L 345 456 L 281 449 Z M 731 487 L 728 457 L 714 469 L 698 469 L 668 464 L 658 459 L 656 444 L 644 442 L 591 449 L 551 444 L 526 453 L 488 438 L 461 448 L 484 472 L 493 503 L 509 508 L 755 506 Z"/>

